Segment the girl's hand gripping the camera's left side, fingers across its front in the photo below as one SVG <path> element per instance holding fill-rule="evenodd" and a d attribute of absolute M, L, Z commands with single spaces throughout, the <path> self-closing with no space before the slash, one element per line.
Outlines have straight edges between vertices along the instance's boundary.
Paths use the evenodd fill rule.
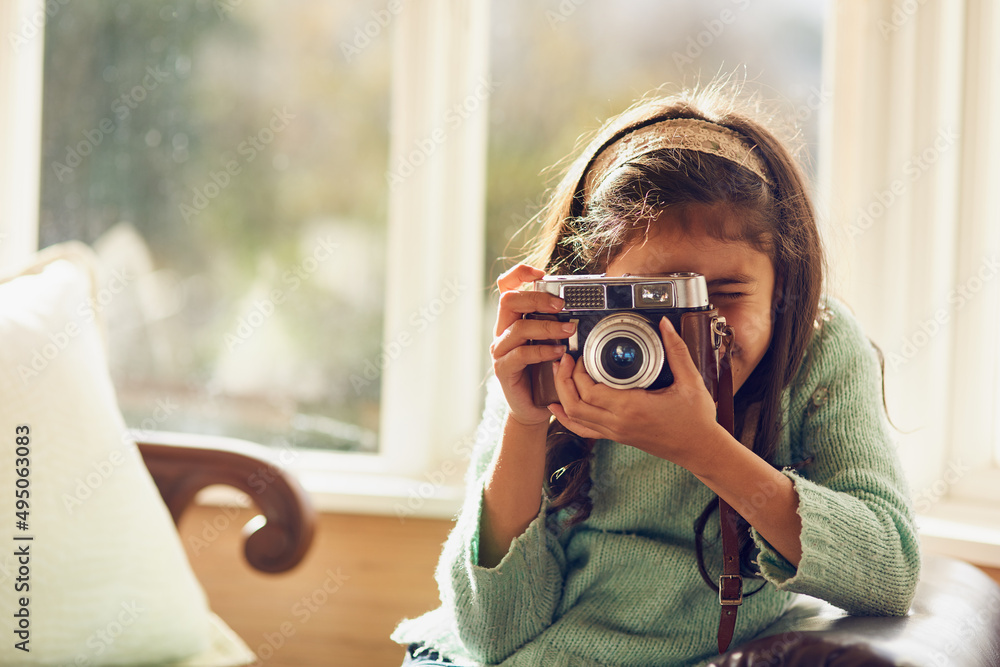
<path fill-rule="evenodd" d="M 497 279 L 500 307 L 490 355 L 493 372 L 503 387 L 509 417 L 525 426 L 547 423 L 551 413 L 531 400 L 529 364 L 550 363 L 563 355 L 563 345 L 527 345 L 529 340 L 567 338 L 576 325 L 548 320 L 522 319 L 525 313 L 557 313 L 563 300 L 546 292 L 519 291 L 519 287 L 545 275 L 544 271 L 518 264 Z"/>

